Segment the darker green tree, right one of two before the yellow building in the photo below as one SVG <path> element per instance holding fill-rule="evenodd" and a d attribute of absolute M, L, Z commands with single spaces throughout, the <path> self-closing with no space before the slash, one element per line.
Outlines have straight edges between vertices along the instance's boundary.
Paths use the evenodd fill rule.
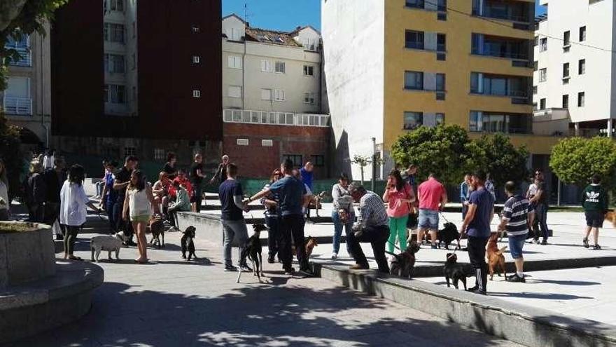
<path fill-rule="evenodd" d="M 466 168 L 481 168 L 490 173 L 495 186 L 507 181 L 520 183 L 528 177 L 525 147 L 516 148 L 504 134 L 483 135 L 466 145 L 468 160 Z"/>

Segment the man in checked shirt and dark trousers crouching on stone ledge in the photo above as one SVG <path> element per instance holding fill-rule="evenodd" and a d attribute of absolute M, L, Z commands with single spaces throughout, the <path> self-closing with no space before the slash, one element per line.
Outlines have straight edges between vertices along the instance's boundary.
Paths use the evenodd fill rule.
<path fill-rule="evenodd" d="M 368 261 L 359 243 L 369 242 L 377 261 L 379 272 L 389 273 L 389 265 L 385 257 L 385 244 L 389 238 L 389 218 L 381 197 L 372 191 L 367 191 L 358 182 L 349 185 L 349 193 L 359 202 L 359 215 L 353 225 L 353 232 L 346 236 L 346 243 L 355 259 L 351 269 L 366 269 Z"/>

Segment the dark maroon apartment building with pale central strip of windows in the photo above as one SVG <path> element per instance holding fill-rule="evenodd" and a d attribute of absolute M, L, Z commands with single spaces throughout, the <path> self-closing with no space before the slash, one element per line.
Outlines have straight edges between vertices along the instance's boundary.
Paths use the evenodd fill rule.
<path fill-rule="evenodd" d="M 71 0 L 51 30 L 52 147 L 165 161 L 222 146 L 221 1 Z M 153 163 L 153 166 L 154 163 Z"/>

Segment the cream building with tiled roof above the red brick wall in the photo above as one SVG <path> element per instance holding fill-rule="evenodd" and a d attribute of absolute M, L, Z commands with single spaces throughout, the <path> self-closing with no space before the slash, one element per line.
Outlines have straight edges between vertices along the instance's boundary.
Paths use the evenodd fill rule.
<path fill-rule="evenodd" d="M 313 27 L 278 32 L 223 18 L 225 122 L 328 125 L 321 64 L 321 34 Z M 256 111 L 258 121 L 251 120 Z M 254 112 L 252 112 L 254 113 Z M 243 114 L 248 115 L 245 119 Z M 255 118 L 256 120 L 256 118 Z"/>

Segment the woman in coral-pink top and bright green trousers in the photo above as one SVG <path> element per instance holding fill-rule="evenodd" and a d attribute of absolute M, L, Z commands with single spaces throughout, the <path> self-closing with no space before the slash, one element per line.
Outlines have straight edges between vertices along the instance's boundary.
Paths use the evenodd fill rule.
<path fill-rule="evenodd" d="M 395 237 L 398 236 L 400 252 L 407 249 L 407 219 L 409 219 L 410 206 L 414 202 L 415 194 L 411 185 L 404 182 L 400 171 L 391 170 L 387 178 L 387 186 L 383 193 L 383 201 L 388 203 L 387 215 L 389 217 L 388 251 L 393 253 Z"/>

